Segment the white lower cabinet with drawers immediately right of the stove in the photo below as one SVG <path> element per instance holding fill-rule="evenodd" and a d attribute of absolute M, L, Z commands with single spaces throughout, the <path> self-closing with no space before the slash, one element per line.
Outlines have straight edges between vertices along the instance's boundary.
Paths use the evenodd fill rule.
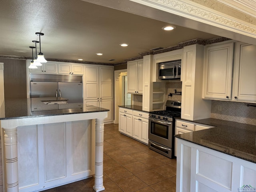
<path fill-rule="evenodd" d="M 198 124 L 198 123 L 185 121 L 185 120 L 176 120 L 175 135 L 188 133 L 192 131 L 204 130 L 204 129 L 213 128 L 213 127 L 214 126 Z M 174 156 L 177 156 L 177 138 L 175 138 Z"/>

